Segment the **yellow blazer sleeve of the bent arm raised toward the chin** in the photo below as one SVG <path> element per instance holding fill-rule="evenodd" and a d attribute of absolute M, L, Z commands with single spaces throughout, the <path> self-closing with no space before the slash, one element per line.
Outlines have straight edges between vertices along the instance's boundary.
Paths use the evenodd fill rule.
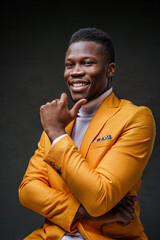
<path fill-rule="evenodd" d="M 154 138 L 152 114 L 140 107 L 96 169 L 91 168 L 69 136 L 53 146 L 46 161 L 61 169 L 62 178 L 76 198 L 91 216 L 97 217 L 113 208 L 141 177 Z"/>

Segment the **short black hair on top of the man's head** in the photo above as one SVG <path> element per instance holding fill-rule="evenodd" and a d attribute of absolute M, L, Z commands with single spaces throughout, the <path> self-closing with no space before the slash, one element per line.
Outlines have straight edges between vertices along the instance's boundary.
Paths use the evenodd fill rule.
<path fill-rule="evenodd" d="M 109 62 L 115 62 L 113 43 L 106 32 L 97 28 L 81 28 L 72 34 L 68 47 L 72 43 L 80 41 L 93 41 L 101 44 L 107 60 Z"/>

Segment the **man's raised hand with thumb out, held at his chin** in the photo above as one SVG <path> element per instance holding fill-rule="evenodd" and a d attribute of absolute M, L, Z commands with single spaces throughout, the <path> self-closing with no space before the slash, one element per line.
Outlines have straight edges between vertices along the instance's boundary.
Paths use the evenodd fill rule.
<path fill-rule="evenodd" d="M 81 99 L 69 110 L 67 94 L 62 93 L 60 99 L 41 106 L 42 127 L 51 141 L 65 133 L 66 126 L 76 118 L 79 109 L 86 102 L 86 99 Z"/>

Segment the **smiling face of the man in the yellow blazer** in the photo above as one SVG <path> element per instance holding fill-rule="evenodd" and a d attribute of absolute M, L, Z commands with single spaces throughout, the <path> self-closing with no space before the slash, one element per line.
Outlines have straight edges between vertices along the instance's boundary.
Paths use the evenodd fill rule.
<path fill-rule="evenodd" d="M 69 46 L 65 57 L 64 79 L 74 102 L 82 98 L 90 101 L 109 89 L 109 72 L 110 66 L 102 54 L 100 44 L 79 41 Z"/>

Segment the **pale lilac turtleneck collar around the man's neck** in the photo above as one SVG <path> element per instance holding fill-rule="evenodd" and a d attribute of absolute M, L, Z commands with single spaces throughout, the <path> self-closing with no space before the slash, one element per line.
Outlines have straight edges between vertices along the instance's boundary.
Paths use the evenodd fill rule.
<path fill-rule="evenodd" d="M 111 87 L 106 92 L 102 93 L 99 97 L 84 104 L 78 112 L 78 117 L 88 117 L 94 115 L 101 103 L 112 93 L 112 91 L 113 88 Z"/>

